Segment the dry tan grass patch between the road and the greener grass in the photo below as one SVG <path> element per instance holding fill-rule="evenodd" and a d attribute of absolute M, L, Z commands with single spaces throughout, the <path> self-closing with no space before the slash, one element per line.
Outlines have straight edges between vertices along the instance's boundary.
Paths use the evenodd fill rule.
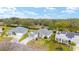
<path fill-rule="evenodd" d="M 45 46 L 45 40 L 43 40 L 43 39 L 32 40 L 32 41 L 28 42 L 27 45 L 33 49 L 48 50 L 47 47 Z"/>

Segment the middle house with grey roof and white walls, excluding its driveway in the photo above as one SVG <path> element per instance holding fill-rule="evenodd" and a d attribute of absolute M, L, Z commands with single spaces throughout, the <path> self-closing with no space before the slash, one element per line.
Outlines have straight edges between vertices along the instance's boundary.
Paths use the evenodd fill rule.
<path fill-rule="evenodd" d="M 51 35 L 52 35 L 52 31 L 48 30 L 48 29 L 39 29 L 39 30 L 31 32 L 29 34 L 29 36 L 33 37 L 34 39 L 39 38 L 39 37 L 40 38 L 44 38 L 44 37 L 50 38 Z"/>

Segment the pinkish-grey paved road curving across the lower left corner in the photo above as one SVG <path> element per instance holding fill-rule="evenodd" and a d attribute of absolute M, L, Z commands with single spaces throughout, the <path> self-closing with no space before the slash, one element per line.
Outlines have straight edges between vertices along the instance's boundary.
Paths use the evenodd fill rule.
<path fill-rule="evenodd" d="M 0 42 L 0 51 L 34 51 L 34 49 L 26 45 L 3 41 Z"/>

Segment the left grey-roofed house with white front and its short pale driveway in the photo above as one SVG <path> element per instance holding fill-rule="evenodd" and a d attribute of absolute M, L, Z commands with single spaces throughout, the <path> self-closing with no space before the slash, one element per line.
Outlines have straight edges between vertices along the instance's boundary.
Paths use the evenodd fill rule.
<path fill-rule="evenodd" d="M 8 36 L 14 36 L 14 41 L 18 42 L 19 39 L 28 32 L 27 28 L 24 27 L 16 27 L 16 28 L 12 28 L 9 32 L 8 32 Z"/>

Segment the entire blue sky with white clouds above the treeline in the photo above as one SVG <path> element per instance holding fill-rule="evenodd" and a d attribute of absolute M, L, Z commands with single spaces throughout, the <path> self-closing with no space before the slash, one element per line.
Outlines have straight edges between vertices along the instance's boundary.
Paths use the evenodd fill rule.
<path fill-rule="evenodd" d="M 79 18 L 78 7 L 0 7 L 0 18 Z"/>

